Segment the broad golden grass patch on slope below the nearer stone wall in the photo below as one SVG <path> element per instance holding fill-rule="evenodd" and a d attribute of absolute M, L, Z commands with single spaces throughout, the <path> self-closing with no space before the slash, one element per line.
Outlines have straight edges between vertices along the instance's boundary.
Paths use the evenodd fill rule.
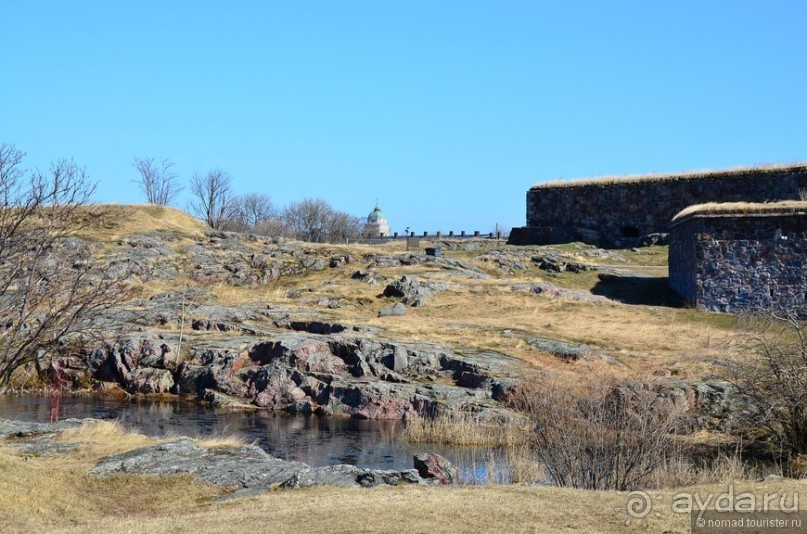
<path fill-rule="evenodd" d="M 689 372 L 698 371 L 692 365 L 704 358 L 720 356 L 733 335 L 709 322 L 691 321 L 690 316 L 682 309 L 592 305 L 514 293 L 509 284 L 490 283 L 473 293 L 442 294 L 433 305 L 410 309 L 392 321 L 365 317 L 365 324 L 383 327 L 398 339 L 498 350 L 541 367 L 562 362 L 507 331 L 591 345 L 638 371 L 677 364 Z"/>

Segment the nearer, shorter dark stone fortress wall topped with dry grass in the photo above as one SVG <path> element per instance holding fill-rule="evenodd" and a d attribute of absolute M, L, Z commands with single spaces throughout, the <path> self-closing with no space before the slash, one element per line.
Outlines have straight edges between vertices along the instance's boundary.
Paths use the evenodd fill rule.
<path fill-rule="evenodd" d="M 700 309 L 807 316 L 807 203 L 695 208 L 672 223 L 669 271 Z"/>

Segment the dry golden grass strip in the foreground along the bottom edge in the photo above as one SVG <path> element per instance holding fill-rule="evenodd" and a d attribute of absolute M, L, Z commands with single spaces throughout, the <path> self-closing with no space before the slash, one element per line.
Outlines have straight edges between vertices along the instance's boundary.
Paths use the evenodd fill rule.
<path fill-rule="evenodd" d="M 0 465 L 6 467 L 4 460 Z M 0 478 L 6 479 L 8 471 L 3 471 Z M 625 494 L 541 486 L 321 487 L 212 503 L 214 490 L 181 477 L 91 481 L 74 474 L 43 490 L 29 484 L 47 473 L 34 472 L 27 480 L 19 469 L 14 474 L 24 481 L 0 497 L 4 532 L 259 533 L 296 531 L 303 525 L 311 532 L 350 533 L 689 532 L 689 516 L 671 510 L 678 491 L 669 490 L 652 492 L 654 513 L 645 521 L 629 521 Z M 122 486 L 124 482 L 139 485 Z M 64 483 L 69 486 L 61 486 Z M 77 483 L 89 487 L 81 489 Z M 30 500 L 16 500 L 26 490 L 33 492 Z M 727 491 L 724 485 L 691 490 Z M 804 485 L 738 484 L 735 492 L 742 491 L 792 495 L 803 492 Z M 8 506 L 12 501 L 17 511 Z"/>

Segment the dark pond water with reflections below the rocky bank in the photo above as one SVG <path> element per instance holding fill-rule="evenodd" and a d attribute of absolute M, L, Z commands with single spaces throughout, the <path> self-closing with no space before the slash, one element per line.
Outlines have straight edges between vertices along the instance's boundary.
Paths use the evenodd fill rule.
<path fill-rule="evenodd" d="M 401 421 L 214 410 L 183 401 L 91 397 L 64 397 L 60 411 L 61 419 L 118 419 L 127 428 L 153 437 L 236 435 L 277 458 L 317 467 L 344 463 L 372 469 L 411 469 L 413 454 L 436 452 L 460 469 L 465 483 L 486 482 L 489 475 L 496 482 L 509 482 L 501 450 L 410 445 L 401 438 Z M 0 397 L 0 418 L 46 423 L 50 415 L 45 397 Z"/>

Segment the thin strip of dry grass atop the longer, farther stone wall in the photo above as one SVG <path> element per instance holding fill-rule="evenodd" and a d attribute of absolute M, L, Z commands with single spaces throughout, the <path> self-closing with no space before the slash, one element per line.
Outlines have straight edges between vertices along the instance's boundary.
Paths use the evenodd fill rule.
<path fill-rule="evenodd" d="M 641 174 L 641 175 L 628 175 L 628 176 L 602 176 L 597 178 L 581 178 L 575 180 L 555 180 L 536 184 L 532 187 L 536 189 L 555 189 L 567 187 L 585 187 L 585 186 L 607 186 L 615 184 L 649 184 L 659 182 L 675 182 L 682 180 L 704 180 L 704 179 L 720 179 L 736 175 L 764 175 L 774 173 L 788 173 L 803 171 L 807 168 L 807 163 L 791 163 L 782 165 L 759 165 L 747 167 L 734 167 L 732 169 L 723 170 L 698 170 L 686 171 L 679 173 L 665 173 L 665 174 Z"/>

